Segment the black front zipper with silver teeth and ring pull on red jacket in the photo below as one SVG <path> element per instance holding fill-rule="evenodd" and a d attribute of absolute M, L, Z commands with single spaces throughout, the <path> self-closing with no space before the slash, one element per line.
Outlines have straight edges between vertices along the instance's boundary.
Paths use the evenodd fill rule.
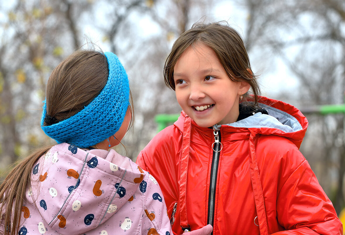
<path fill-rule="evenodd" d="M 211 165 L 211 177 L 210 177 L 210 188 L 208 193 L 208 216 L 207 224 L 213 226 L 214 222 L 214 209 L 216 201 L 216 185 L 217 185 L 217 175 L 218 175 L 218 163 L 219 163 L 219 152 L 223 149 L 223 145 L 220 142 L 220 133 L 213 129 L 213 134 L 215 136 L 215 142 L 212 143 L 211 147 L 213 149 L 213 158 Z M 211 233 L 211 235 L 213 232 Z"/>

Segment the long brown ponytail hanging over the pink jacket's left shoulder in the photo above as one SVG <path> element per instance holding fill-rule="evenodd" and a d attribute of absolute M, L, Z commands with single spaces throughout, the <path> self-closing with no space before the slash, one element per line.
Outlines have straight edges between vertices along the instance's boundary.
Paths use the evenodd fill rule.
<path fill-rule="evenodd" d="M 21 208 L 30 186 L 30 176 L 34 164 L 52 147 L 46 146 L 37 149 L 28 157 L 19 162 L 0 186 L 0 231 L 4 235 L 16 235 L 20 227 Z M 13 214 L 13 217 L 12 217 Z M 11 219 L 12 217 L 12 219 Z M 12 220 L 12 221 L 11 221 Z"/>

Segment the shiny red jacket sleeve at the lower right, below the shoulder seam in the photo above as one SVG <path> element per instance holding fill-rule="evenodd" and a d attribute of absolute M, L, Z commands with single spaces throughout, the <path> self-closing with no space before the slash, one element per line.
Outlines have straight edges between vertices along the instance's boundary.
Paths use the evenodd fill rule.
<path fill-rule="evenodd" d="M 332 202 L 319 185 L 307 160 L 285 181 L 277 195 L 276 209 L 278 222 L 287 231 L 275 235 L 343 234 L 342 223 Z"/>

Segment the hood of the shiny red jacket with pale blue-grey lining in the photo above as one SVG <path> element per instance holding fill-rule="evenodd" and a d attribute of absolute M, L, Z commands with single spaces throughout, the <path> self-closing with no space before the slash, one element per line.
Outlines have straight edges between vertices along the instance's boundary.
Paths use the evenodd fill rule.
<path fill-rule="evenodd" d="M 215 130 L 235 128 L 236 132 L 250 131 L 254 135 L 278 135 L 290 139 L 299 148 L 308 127 L 306 117 L 293 105 L 267 97 L 259 98 L 259 106 L 266 109 L 268 115 L 258 112 L 234 123 L 216 124 L 213 128 Z M 174 123 L 181 132 L 186 117 L 186 113 L 182 111 L 179 119 Z M 193 120 L 192 124 L 207 130 L 207 128 L 199 127 Z"/>

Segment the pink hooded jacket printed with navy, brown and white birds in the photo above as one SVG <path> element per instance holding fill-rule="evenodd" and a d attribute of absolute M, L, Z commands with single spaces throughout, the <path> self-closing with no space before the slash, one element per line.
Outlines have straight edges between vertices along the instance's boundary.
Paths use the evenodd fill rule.
<path fill-rule="evenodd" d="M 57 144 L 33 165 L 18 235 L 172 234 L 148 172 L 115 150 L 109 162 L 72 146 Z"/>

